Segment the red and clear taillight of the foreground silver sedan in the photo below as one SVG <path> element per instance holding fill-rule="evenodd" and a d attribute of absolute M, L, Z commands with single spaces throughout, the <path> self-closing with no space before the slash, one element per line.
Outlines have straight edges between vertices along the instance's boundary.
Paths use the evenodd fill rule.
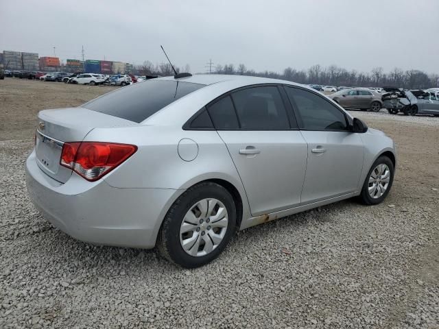
<path fill-rule="evenodd" d="M 103 142 L 64 143 L 60 164 L 86 180 L 99 180 L 137 151 L 130 144 Z"/>

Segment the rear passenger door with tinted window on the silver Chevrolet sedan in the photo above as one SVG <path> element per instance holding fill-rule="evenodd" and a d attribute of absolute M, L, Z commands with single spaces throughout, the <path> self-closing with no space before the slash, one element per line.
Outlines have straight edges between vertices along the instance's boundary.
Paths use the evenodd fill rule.
<path fill-rule="evenodd" d="M 274 85 L 243 88 L 207 106 L 254 216 L 300 204 L 307 143 L 287 106 Z"/>

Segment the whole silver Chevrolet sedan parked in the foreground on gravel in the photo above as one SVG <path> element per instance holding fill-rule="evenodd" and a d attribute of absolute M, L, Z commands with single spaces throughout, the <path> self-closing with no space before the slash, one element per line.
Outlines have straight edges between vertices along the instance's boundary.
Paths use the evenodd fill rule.
<path fill-rule="evenodd" d="M 316 90 L 236 75 L 163 77 L 38 114 L 36 208 L 75 239 L 209 263 L 236 232 L 394 178 L 392 139 Z"/>

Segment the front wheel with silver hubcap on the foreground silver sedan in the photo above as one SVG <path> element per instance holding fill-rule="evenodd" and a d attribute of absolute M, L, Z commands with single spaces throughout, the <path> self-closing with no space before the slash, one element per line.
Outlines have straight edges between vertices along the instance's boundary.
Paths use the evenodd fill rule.
<path fill-rule="evenodd" d="M 361 188 L 360 200 L 368 206 L 380 204 L 388 195 L 393 184 L 393 162 L 387 156 L 380 156 L 370 168 L 363 188 Z"/>

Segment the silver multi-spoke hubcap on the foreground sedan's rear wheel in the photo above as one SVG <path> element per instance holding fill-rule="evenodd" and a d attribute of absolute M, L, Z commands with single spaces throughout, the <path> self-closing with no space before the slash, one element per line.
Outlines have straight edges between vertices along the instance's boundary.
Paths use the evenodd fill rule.
<path fill-rule="evenodd" d="M 226 206 L 217 199 L 202 199 L 189 209 L 182 220 L 180 244 L 191 256 L 205 256 L 224 239 L 227 226 Z"/>

